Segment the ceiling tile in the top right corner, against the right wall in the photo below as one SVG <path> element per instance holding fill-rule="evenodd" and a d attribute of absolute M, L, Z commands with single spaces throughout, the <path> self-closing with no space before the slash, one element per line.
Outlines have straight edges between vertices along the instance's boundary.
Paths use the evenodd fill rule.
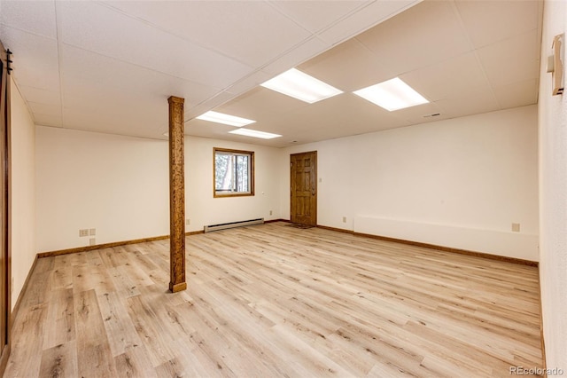
<path fill-rule="evenodd" d="M 529 0 L 455 1 L 462 22 L 477 48 L 536 29 L 538 3 Z"/>

